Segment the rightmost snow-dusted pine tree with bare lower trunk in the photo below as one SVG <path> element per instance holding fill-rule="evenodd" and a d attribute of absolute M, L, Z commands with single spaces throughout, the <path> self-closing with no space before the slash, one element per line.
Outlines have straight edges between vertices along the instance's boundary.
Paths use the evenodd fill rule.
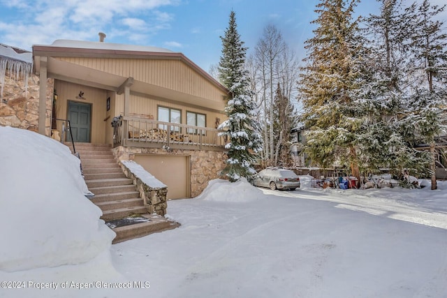
<path fill-rule="evenodd" d="M 406 106 L 406 125 L 413 128 L 417 140 L 430 144 L 430 172 L 432 189 L 437 188 L 435 137 L 446 131 L 447 106 L 447 33 L 439 13 L 446 5 L 431 6 L 424 0 L 420 5 L 413 4 L 408 11 L 413 13 L 411 28 L 411 50 L 415 66 L 410 73 L 414 78 Z"/>

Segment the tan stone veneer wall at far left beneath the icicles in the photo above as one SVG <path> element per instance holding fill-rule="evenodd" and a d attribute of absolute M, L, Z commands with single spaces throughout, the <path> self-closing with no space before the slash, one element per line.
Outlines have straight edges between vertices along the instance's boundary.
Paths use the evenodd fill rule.
<path fill-rule="evenodd" d="M 54 79 L 47 80 L 45 135 L 50 136 Z M 38 131 L 39 77 L 30 75 L 25 92 L 24 80 L 15 80 L 6 71 L 3 100 L 0 102 L 0 125 Z"/>

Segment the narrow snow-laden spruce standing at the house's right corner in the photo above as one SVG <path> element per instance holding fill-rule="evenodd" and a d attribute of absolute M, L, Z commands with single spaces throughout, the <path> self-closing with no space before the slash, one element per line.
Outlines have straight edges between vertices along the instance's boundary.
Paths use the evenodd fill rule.
<path fill-rule="evenodd" d="M 252 164 L 256 154 L 261 151 L 261 135 L 255 120 L 256 103 L 249 91 L 249 81 L 244 70 L 247 48 L 237 32 L 235 12 L 231 10 L 230 21 L 222 37 L 222 55 L 219 61 L 219 79 L 230 94 L 225 107 L 228 119 L 223 121 L 219 135 L 228 137 L 228 159 L 221 175 L 231 182 L 255 173 Z"/>

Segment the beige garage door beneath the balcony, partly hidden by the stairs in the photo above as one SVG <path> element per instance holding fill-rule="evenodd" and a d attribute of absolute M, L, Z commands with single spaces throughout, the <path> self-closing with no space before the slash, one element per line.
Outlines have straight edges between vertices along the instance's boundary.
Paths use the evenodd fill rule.
<path fill-rule="evenodd" d="M 189 198 L 189 156 L 135 155 L 135 162 L 168 186 L 168 200 Z"/>

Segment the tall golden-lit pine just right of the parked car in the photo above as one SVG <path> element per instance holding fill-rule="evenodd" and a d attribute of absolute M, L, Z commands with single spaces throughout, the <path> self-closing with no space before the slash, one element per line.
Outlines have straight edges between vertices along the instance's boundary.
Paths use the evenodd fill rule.
<path fill-rule="evenodd" d="M 351 167 L 360 181 L 358 133 L 360 107 L 354 94 L 360 89 L 364 54 L 358 20 L 353 10 L 359 0 L 324 0 L 316 6 L 318 27 L 306 41 L 308 50 L 300 80 L 305 112 L 306 151 L 323 167 L 336 161 Z"/>

